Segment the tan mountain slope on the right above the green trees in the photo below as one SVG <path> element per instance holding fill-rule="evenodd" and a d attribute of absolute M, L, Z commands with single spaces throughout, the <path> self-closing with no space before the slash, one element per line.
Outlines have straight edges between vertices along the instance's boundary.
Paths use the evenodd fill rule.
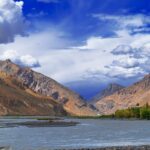
<path fill-rule="evenodd" d="M 118 109 L 150 104 L 150 74 L 132 86 L 124 88 L 95 103 L 100 114 L 112 114 Z"/>

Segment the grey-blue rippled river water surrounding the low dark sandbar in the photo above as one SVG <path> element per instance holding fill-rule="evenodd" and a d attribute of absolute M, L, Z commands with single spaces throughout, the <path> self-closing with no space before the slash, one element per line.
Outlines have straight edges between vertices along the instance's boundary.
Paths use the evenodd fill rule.
<path fill-rule="evenodd" d="M 27 120 L 0 119 L 0 124 L 16 121 Z M 0 128 L 0 146 L 11 146 L 13 150 L 48 150 L 150 143 L 150 121 L 75 121 L 79 121 L 80 124 L 71 127 Z"/>

